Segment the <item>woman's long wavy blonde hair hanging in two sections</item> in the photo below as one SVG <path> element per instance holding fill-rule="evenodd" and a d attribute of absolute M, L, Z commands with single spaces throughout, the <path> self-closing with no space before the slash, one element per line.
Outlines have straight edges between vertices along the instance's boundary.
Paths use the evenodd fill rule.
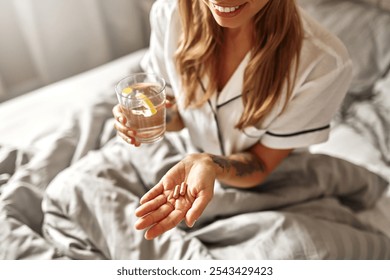
<path fill-rule="evenodd" d="M 216 65 L 223 32 L 202 1 L 179 0 L 183 34 L 176 52 L 185 106 L 201 106 L 217 90 Z M 295 0 L 270 0 L 254 19 L 253 47 L 245 69 L 243 114 L 236 127 L 261 123 L 286 90 L 285 104 L 295 82 L 303 28 Z M 196 97 L 199 79 L 209 77 L 204 96 Z"/>

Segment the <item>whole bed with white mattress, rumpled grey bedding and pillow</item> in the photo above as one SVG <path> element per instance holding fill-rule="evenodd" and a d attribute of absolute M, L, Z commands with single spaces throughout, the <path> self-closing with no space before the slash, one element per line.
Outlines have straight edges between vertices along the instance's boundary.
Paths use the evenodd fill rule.
<path fill-rule="evenodd" d="M 216 184 L 194 228 L 153 241 L 133 229 L 139 196 L 196 148 L 185 130 L 142 149 L 116 137 L 114 84 L 146 49 L 0 104 L 0 259 L 390 259 L 385 2 L 299 1 L 354 62 L 330 139 L 261 188 Z M 78 184 L 52 187 L 67 178 Z"/>

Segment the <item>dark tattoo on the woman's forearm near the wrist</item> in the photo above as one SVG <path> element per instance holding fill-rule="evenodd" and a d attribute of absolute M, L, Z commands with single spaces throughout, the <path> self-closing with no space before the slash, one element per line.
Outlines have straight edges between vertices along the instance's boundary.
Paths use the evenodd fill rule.
<path fill-rule="evenodd" d="M 252 156 L 250 154 L 242 154 L 243 159 L 235 160 L 235 159 L 227 159 L 220 156 L 211 156 L 211 159 L 215 164 L 217 164 L 222 169 L 229 172 L 232 168 L 235 169 L 236 175 L 239 177 L 244 177 L 250 175 L 254 172 L 264 172 L 265 167 L 263 162 Z"/>

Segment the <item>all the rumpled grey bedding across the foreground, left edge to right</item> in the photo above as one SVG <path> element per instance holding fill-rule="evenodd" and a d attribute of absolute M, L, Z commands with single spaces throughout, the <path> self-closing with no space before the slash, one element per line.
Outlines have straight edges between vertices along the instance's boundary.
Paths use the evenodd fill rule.
<path fill-rule="evenodd" d="M 139 196 L 195 149 L 185 132 L 130 147 L 113 138 L 111 106 L 80 111 L 28 152 L 1 147 L 0 258 L 390 258 L 390 240 L 356 218 L 387 182 L 307 152 L 256 189 L 217 184 L 192 230 L 180 225 L 146 241 L 133 229 Z"/>

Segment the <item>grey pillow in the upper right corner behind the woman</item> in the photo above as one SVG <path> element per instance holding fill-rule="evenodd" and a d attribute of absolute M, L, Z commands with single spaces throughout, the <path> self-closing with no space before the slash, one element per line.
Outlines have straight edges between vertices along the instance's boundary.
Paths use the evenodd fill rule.
<path fill-rule="evenodd" d="M 298 3 L 347 47 L 354 64 L 350 92 L 371 90 L 390 65 L 390 13 L 362 1 L 298 0 Z"/>

